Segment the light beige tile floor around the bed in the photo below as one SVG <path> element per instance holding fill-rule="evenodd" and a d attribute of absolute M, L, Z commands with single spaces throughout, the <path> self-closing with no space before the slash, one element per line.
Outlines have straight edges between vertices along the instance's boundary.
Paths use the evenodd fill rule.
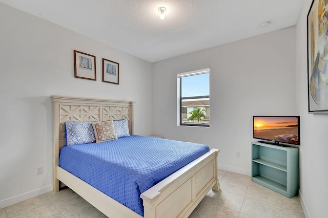
<path fill-rule="evenodd" d="M 209 191 L 189 218 L 305 217 L 298 197 L 286 198 L 238 173 L 218 170 L 218 177 L 221 190 Z M 65 188 L 0 209 L 0 218 L 7 217 L 106 216 Z"/>

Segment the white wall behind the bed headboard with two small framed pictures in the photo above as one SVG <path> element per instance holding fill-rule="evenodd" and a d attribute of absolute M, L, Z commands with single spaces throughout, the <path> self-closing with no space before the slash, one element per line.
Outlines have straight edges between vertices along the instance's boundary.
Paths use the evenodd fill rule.
<path fill-rule="evenodd" d="M 0 20 L 0 208 L 52 190 L 50 95 L 135 101 L 135 134 L 151 135 L 151 63 L 1 3 Z M 74 78 L 73 50 L 96 56 L 97 81 Z"/>

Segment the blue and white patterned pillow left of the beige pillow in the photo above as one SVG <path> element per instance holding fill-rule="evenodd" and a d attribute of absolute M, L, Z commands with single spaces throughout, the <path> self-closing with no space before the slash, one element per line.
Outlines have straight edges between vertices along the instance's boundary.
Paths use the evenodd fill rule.
<path fill-rule="evenodd" d="M 67 145 L 86 144 L 96 141 L 92 122 L 65 122 L 65 137 Z"/>

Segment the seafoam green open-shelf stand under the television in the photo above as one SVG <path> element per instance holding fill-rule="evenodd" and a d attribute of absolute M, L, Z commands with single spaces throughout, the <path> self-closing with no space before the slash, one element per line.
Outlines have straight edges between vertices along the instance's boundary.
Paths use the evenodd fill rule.
<path fill-rule="evenodd" d="M 252 142 L 252 181 L 285 197 L 298 194 L 299 149 Z"/>

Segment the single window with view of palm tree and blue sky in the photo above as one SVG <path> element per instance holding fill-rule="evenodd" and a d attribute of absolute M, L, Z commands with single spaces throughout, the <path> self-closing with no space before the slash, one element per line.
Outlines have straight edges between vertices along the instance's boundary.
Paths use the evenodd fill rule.
<path fill-rule="evenodd" d="M 178 74 L 178 125 L 210 126 L 210 69 Z"/>

